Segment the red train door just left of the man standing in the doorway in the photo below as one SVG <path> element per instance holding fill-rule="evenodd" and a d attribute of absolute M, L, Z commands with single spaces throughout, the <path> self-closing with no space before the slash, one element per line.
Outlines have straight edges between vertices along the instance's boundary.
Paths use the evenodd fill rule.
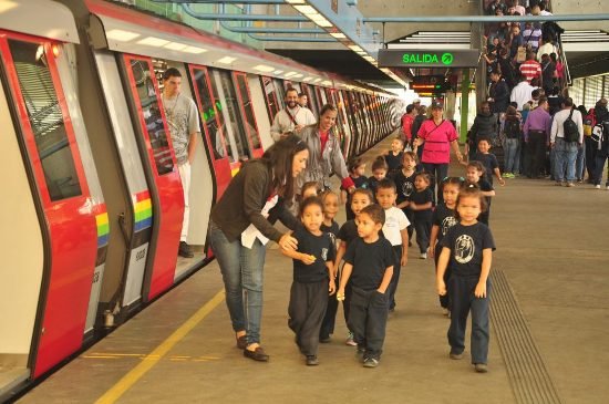
<path fill-rule="evenodd" d="M 128 54 L 121 59 L 152 197 L 152 206 L 142 206 L 142 211 L 149 217 L 151 208 L 154 210 L 142 294 L 144 301 L 149 301 L 174 283 L 184 193 L 152 60 Z"/>

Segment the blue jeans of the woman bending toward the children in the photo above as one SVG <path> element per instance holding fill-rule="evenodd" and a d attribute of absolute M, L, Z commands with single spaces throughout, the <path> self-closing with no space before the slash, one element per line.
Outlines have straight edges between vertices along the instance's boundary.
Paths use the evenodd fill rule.
<path fill-rule="evenodd" d="M 258 239 L 251 248 L 244 247 L 240 238 L 228 241 L 213 221 L 209 240 L 223 274 L 233 330 L 245 330 L 248 344 L 260 343 L 266 248 Z"/>

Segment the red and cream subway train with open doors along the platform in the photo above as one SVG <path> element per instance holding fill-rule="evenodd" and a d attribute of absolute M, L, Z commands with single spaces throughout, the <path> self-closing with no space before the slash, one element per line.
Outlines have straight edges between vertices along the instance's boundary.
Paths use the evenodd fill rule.
<path fill-rule="evenodd" d="M 200 118 L 184 197 L 161 97 L 180 71 Z M 399 124 L 390 94 L 102 0 L 0 2 L 0 401 L 210 259 L 214 201 L 272 144 L 285 91 L 339 107 L 345 156 Z"/>

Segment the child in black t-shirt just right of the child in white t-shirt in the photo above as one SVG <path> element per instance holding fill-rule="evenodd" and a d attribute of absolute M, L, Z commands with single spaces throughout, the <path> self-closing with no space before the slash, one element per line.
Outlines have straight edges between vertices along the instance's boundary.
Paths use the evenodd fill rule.
<path fill-rule="evenodd" d="M 427 259 L 430 247 L 430 234 L 432 231 L 433 190 L 430 188 L 431 177 L 427 173 L 417 173 L 414 177 L 414 194 L 410 198 L 407 208 L 414 213 L 414 228 L 416 229 L 416 244 L 421 255 L 419 258 Z"/>

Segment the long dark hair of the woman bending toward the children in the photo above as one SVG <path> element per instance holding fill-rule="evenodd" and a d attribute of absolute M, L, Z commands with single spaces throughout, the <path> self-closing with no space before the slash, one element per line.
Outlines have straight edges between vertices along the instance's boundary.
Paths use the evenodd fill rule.
<path fill-rule="evenodd" d="M 287 204 L 293 197 L 295 178 L 292 177 L 293 156 L 307 149 L 307 144 L 296 135 L 289 135 L 275 143 L 262 155 L 262 159 L 272 167 L 271 189 L 277 190 Z"/>

